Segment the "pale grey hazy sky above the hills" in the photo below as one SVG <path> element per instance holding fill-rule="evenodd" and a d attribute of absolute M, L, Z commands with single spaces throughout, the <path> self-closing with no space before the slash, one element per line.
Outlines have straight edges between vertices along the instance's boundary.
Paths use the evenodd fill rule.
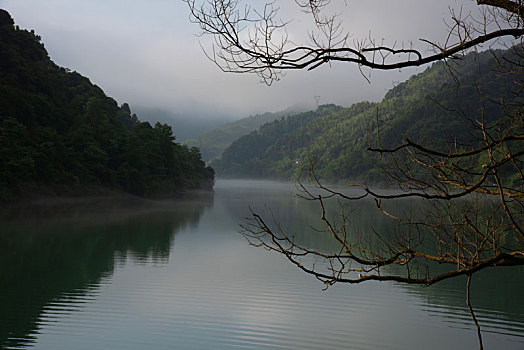
<path fill-rule="evenodd" d="M 337 1 L 337 0 L 334 0 Z M 262 0 L 251 1 L 260 5 Z M 290 35 L 309 28 L 283 0 L 293 19 Z M 473 0 L 347 0 L 346 31 L 386 42 L 442 40 L 449 7 L 474 8 Z M 78 71 L 119 103 L 160 107 L 187 115 L 243 117 L 296 104 L 351 105 L 379 100 L 394 81 L 417 70 L 373 72 L 371 84 L 357 67 L 333 64 L 312 72 L 291 72 L 268 87 L 255 75 L 222 73 L 202 53 L 198 27 L 181 0 L 0 0 L 16 24 L 42 37 L 51 59 Z M 418 69 L 420 71 L 420 69 Z"/>

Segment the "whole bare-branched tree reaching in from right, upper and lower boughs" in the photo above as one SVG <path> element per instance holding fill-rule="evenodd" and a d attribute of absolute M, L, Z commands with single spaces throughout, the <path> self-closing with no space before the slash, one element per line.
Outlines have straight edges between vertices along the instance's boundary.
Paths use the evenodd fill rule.
<path fill-rule="evenodd" d="M 399 191 L 381 193 L 353 184 L 351 188 L 361 190 L 355 195 L 325 186 L 314 164 L 305 169 L 305 177 L 299 178 L 300 196 L 318 202 L 325 228 L 319 234 L 330 235 L 337 250 L 322 252 L 302 245 L 283 232 L 278 222 L 255 212 L 243 226 L 252 244 L 285 255 L 326 286 L 369 280 L 431 285 L 467 276 L 467 304 L 482 349 L 469 298 L 471 276 L 488 267 L 524 264 L 523 2 L 478 0 L 478 15 L 452 10 L 445 42 L 421 39 L 430 49 L 424 54 L 428 50 L 414 45 L 387 46 L 369 38 L 350 42 L 340 18 L 326 15 L 334 0 L 295 0 L 298 10 L 310 14 L 314 24 L 308 45 L 288 39 L 287 23 L 279 20 L 278 1 L 266 3 L 260 11 L 243 6 L 240 0 L 185 1 L 192 21 L 214 39 L 207 56 L 223 71 L 255 73 L 268 85 L 281 79 L 286 70 L 312 70 L 335 61 L 391 70 L 457 60 L 484 43 L 511 46 L 506 55 L 493 54 L 499 62 L 494 69 L 514 77 L 514 98 L 493 101 L 485 91 L 467 87 L 473 88 L 469 95 L 476 95 L 486 106 L 478 115 L 455 111 L 457 119 L 468 126 L 469 135 L 443 138 L 440 148 L 408 138 L 399 145 L 384 146 L 377 111 L 370 132 L 375 135 L 374 144 L 368 150 L 389 159 L 393 166 L 385 171 Z M 448 68 L 453 74 L 453 65 Z M 489 117 L 487 105 L 493 103 L 504 111 L 504 117 Z M 366 197 L 373 198 L 377 209 L 397 222 L 393 232 L 375 232 L 371 238 L 348 229 L 351 220 L 345 205 Z M 336 215 L 328 212 L 330 198 L 341 201 Z M 387 206 L 386 202 L 404 198 L 424 201 L 418 215 L 401 215 Z"/>

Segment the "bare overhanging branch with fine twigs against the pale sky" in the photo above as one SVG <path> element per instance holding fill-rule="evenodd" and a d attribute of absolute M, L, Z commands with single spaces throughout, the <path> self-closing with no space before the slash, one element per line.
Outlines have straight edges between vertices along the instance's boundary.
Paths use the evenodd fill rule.
<path fill-rule="evenodd" d="M 335 61 L 380 70 L 421 66 L 460 57 L 466 50 L 493 39 L 524 34 L 524 5 L 520 0 L 477 0 L 481 9 L 478 17 L 452 11 L 444 43 L 420 39 L 430 46 L 429 55 L 412 46 L 385 46 L 372 38 L 352 44 L 339 16 L 324 14 L 331 3 L 345 1 L 295 0 L 299 9 L 313 19 L 310 45 L 295 44 L 288 38 L 288 22 L 279 18 L 278 1 L 265 3 L 261 10 L 244 6 L 242 0 L 184 1 L 202 34 L 214 39 L 215 45 L 207 56 L 223 71 L 256 73 L 267 84 L 280 79 L 286 70 L 312 70 Z"/>

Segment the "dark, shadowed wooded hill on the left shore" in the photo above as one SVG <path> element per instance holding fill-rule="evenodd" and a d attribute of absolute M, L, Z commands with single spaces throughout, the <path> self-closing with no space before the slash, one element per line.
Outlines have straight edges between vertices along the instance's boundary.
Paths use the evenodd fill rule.
<path fill-rule="evenodd" d="M 0 10 L 0 199 L 108 189 L 157 196 L 212 186 L 213 169 L 198 149 L 56 66 L 39 41 Z"/>

